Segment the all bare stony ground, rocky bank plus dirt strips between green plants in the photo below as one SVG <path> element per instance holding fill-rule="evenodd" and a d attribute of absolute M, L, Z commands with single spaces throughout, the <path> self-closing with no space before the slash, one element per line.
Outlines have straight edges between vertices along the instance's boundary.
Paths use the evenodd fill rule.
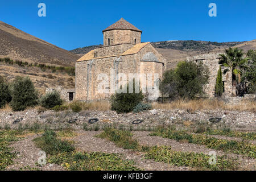
<path fill-rule="evenodd" d="M 134 127 L 133 130 L 141 127 L 137 131 L 133 132 L 133 138 L 137 139 L 139 144 L 146 146 L 171 146 L 172 150 L 187 151 L 187 152 L 203 152 L 209 154 L 210 151 L 214 151 L 203 145 L 177 142 L 173 139 L 167 139 L 162 137 L 151 137 L 150 131 L 147 131 L 150 127 L 158 125 L 175 125 L 182 127 L 199 127 L 200 123 L 211 123 L 210 118 L 221 118 L 218 123 L 212 123 L 210 126 L 228 126 L 230 129 L 239 131 L 256 131 L 256 114 L 249 111 L 225 111 L 225 110 L 201 110 L 191 113 L 189 110 L 175 109 L 175 110 L 148 110 L 141 113 L 127 113 L 117 114 L 115 111 L 92 111 L 86 110 L 80 113 L 73 113 L 71 110 L 55 112 L 51 110 L 40 112 L 36 109 L 13 112 L 13 111 L 1 111 L 0 112 L 0 126 L 3 128 L 11 127 L 35 127 L 34 123 L 42 127 L 48 125 L 53 129 L 60 129 L 64 127 L 72 128 L 77 134 L 75 137 L 68 138 L 75 142 L 76 150 L 94 152 L 100 151 L 105 153 L 118 153 L 122 154 L 124 159 L 134 160 L 136 167 L 145 170 L 197 170 L 190 167 L 177 167 L 171 166 L 162 162 L 155 162 L 154 160 L 146 160 L 143 154 L 135 152 L 133 150 L 126 150 L 117 147 L 113 142 L 109 140 L 97 138 L 96 134 L 100 134 L 102 131 L 98 131 L 101 127 L 108 125 L 116 125 L 117 127 Z M 89 119 L 97 118 L 99 121 L 93 124 L 88 123 Z M 19 120 L 17 120 L 19 119 Z M 136 119 L 142 119 L 142 123 L 133 125 L 133 121 Z M 16 122 L 14 122 L 16 121 Z M 208 125 L 209 126 L 209 125 Z M 86 130 L 82 130 L 85 129 Z M 92 127 L 94 127 L 92 129 Z M 97 128 L 99 127 L 99 128 Z M 92 131 L 88 131 L 92 130 Z M 95 131 L 94 131 L 95 130 Z M 146 131 L 145 131 L 146 130 Z M 40 157 L 40 148 L 37 148 L 32 142 L 32 139 L 38 137 L 40 134 L 31 133 L 30 135 L 23 136 L 24 139 L 18 142 L 13 142 L 10 147 L 13 147 L 13 151 L 17 152 L 17 158 L 14 159 L 14 163 L 8 166 L 7 170 L 64 170 L 65 168 L 57 164 L 46 164 L 45 166 L 38 166 L 36 163 Z M 212 137 L 222 138 L 227 140 L 243 141 L 239 137 L 226 137 L 219 135 L 212 135 Z M 255 144 L 256 140 L 248 140 L 248 142 Z M 217 155 L 226 155 L 224 151 L 216 150 Z M 255 159 L 246 158 L 242 155 L 228 154 L 232 158 L 237 158 L 241 162 L 241 170 L 253 170 L 256 169 Z"/>

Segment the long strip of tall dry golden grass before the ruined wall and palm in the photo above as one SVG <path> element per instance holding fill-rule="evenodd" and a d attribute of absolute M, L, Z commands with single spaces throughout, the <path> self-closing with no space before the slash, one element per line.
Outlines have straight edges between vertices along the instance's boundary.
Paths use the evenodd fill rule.
<path fill-rule="evenodd" d="M 225 104 L 223 101 L 217 100 L 176 100 L 166 104 L 153 104 L 153 109 L 188 109 L 190 113 L 195 113 L 196 110 L 240 110 L 256 112 L 256 103 L 254 101 L 243 101 L 240 104 L 232 105 Z"/>

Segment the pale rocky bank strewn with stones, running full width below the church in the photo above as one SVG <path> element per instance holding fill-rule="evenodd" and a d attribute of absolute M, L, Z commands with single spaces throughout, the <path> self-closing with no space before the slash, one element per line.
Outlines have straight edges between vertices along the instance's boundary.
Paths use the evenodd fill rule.
<path fill-rule="evenodd" d="M 52 126 L 73 126 L 75 129 L 81 129 L 84 123 L 88 123 L 89 119 L 97 118 L 102 125 L 104 124 L 121 124 L 132 125 L 136 119 L 142 119 L 142 123 L 136 126 L 158 126 L 168 125 L 177 122 L 209 122 L 210 118 L 221 118 L 219 124 L 234 130 L 255 131 L 256 130 L 256 114 L 249 111 L 229 111 L 229 110 L 200 110 L 191 113 L 189 110 L 148 110 L 141 113 L 117 114 L 115 111 L 81 111 L 73 113 L 71 110 L 55 112 L 47 110 L 39 113 L 37 110 L 26 111 L 1 111 L 0 126 L 17 127 L 18 124 L 30 125 L 31 123 L 49 124 Z M 16 119 L 19 121 L 14 122 Z M 133 125 L 135 126 L 135 125 Z"/>

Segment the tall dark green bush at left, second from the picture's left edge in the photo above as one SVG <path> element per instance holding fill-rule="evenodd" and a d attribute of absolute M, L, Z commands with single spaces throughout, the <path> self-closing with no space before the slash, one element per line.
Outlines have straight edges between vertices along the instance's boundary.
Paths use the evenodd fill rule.
<path fill-rule="evenodd" d="M 11 83 L 10 106 L 14 111 L 21 111 L 38 104 L 38 92 L 29 77 L 15 77 Z"/>

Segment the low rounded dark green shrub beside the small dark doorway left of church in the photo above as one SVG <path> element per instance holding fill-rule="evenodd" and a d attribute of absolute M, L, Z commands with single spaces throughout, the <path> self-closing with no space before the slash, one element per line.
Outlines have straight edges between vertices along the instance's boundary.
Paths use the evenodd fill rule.
<path fill-rule="evenodd" d="M 47 93 L 40 100 L 40 104 L 47 109 L 51 109 L 54 106 L 61 105 L 63 100 L 60 98 L 59 92 L 56 90 Z"/>

